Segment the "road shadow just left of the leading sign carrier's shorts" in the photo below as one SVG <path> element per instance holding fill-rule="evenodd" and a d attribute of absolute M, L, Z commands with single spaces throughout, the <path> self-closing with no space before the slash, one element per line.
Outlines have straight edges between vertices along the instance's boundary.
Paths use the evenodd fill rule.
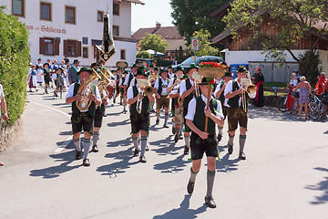
<path fill-rule="evenodd" d="M 163 173 L 177 173 L 184 170 L 190 161 L 183 161 L 185 155 L 181 154 L 179 157 L 172 161 L 157 163 L 154 165 L 154 170 L 161 171 Z"/>

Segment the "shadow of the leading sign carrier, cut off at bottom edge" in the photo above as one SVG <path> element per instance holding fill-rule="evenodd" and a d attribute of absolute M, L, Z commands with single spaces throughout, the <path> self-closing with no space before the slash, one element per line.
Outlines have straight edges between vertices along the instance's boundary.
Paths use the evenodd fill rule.
<path fill-rule="evenodd" d="M 207 209 L 207 205 L 204 203 L 197 209 L 190 209 L 190 195 L 186 194 L 182 202 L 179 204 L 179 208 L 170 210 L 169 212 L 156 215 L 153 219 L 181 219 L 181 218 L 197 218 L 198 214 L 204 213 Z"/>

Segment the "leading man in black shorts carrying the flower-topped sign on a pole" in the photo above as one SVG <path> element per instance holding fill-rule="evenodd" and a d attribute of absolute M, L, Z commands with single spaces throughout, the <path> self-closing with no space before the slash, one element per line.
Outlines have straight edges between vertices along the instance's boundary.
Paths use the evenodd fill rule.
<path fill-rule="evenodd" d="M 190 153 L 192 166 L 190 168 L 190 181 L 187 185 L 188 193 L 193 193 L 197 173 L 200 172 L 201 159 L 204 152 L 207 157 L 207 193 L 205 203 L 210 208 L 215 208 L 216 203 L 212 197 L 212 190 L 215 178 L 215 159 L 219 156 L 217 148 L 218 140 L 215 133 L 216 124 L 223 124 L 223 114 L 220 101 L 210 96 L 210 109 L 207 109 L 207 103 L 210 90 L 211 78 L 202 78 L 200 85 L 201 95 L 191 99 L 186 116 L 187 125 L 190 127 Z M 208 117 L 208 130 L 205 132 L 205 120 Z"/>

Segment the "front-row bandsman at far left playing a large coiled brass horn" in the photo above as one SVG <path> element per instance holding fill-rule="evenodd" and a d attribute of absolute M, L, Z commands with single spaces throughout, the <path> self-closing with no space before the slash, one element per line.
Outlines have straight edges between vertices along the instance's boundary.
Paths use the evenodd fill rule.
<path fill-rule="evenodd" d="M 92 101 L 90 106 L 87 110 L 80 111 L 77 108 L 77 101 L 80 101 L 82 96 L 81 94 L 77 93 L 78 88 L 83 85 L 87 78 L 92 73 L 91 68 L 81 68 L 77 72 L 77 76 L 79 76 L 80 80 L 73 83 L 68 91 L 66 96 L 66 103 L 72 104 L 72 130 L 73 130 L 73 142 L 77 148 L 76 152 L 76 159 L 80 160 L 82 158 L 82 149 L 80 146 L 80 135 L 81 130 L 84 130 L 84 154 L 83 154 L 83 165 L 89 166 L 90 162 L 87 158 L 88 152 L 91 146 L 91 130 L 93 125 L 93 120 L 96 115 L 96 106 L 101 103 L 101 98 L 99 95 L 99 90 L 97 86 L 93 83 L 89 83 L 87 87 L 92 90 L 92 93 L 88 96 L 89 99 Z"/>

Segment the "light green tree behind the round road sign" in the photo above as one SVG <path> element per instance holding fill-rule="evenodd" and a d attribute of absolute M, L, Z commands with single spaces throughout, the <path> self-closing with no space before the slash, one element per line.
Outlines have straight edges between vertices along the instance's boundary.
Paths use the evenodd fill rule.
<path fill-rule="evenodd" d="M 220 53 L 219 48 L 211 47 L 210 43 L 210 32 L 208 30 L 201 29 L 200 31 L 195 31 L 192 37 L 197 37 L 200 39 L 200 51 L 196 52 L 198 57 L 202 56 L 218 56 Z M 190 46 L 188 46 L 190 51 Z"/>

